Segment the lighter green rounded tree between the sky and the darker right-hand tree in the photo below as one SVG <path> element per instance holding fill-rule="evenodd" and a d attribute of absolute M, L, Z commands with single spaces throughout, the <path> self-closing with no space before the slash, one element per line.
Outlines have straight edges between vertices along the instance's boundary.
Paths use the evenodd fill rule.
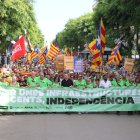
<path fill-rule="evenodd" d="M 64 48 L 80 46 L 82 50 L 85 43 L 89 43 L 94 37 L 94 26 L 92 21 L 92 14 L 88 13 L 77 19 L 70 19 L 65 25 L 65 29 L 58 34 L 59 46 Z"/>

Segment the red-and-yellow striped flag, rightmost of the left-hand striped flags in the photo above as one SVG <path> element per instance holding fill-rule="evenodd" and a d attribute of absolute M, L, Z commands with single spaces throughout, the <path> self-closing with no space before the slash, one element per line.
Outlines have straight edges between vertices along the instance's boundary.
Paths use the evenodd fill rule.
<path fill-rule="evenodd" d="M 53 59 L 57 54 L 60 53 L 59 48 L 57 48 L 56 46 L 54 46 L 52 43 L 50 44 L 50 50 L 47 53 L 47 57 L 49 59 Z"/>

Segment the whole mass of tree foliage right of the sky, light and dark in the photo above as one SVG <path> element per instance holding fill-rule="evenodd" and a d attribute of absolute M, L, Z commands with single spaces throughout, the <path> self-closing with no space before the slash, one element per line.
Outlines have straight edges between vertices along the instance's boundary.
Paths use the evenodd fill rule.
<path fill-rule="evenodd" d="M 131 55 L 131 50 L 137 49 L 140 55 L 139 11 L 139 0 L 98 0 L 92 13 L 67 22 L 65 29 L 58 35 L 58 42 L 62 48 L 80 45 L 83 49 L 85 43 L 97 38 L 102 18 L 106 28 L 107 47 L 113 48 L 114 40 L 124 36 L 127 45 L 121 47 L 121 54 Z"/>

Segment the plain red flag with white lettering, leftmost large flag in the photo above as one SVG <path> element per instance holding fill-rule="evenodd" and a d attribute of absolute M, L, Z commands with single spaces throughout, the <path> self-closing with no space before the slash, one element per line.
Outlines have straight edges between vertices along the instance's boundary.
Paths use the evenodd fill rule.
<path fill-rule="evenodd" d="M 19 59 L 21 56 L 24 56 L 25 53 L 26 50 L 25 50 L 24 36 L 22 36 L 13 46 L 12 61 Z"/>

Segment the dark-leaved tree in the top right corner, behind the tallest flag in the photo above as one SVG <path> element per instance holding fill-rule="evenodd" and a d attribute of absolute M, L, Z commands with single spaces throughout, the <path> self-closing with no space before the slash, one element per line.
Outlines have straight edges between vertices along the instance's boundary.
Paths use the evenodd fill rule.
<path fill-rule="evenodd" d="M 125 38 L 122 50 L 125 54 L 131 55 L 132 49 L 137 49 L 140 55 L 138 44 L 140 4 L 139 0 L 99 0 L 93 17 L 95 26 L 99 25 L 102 17 L 107 30 L 107 45 L 113 46 L 115 38 Z M 126 51 L 127 50 L 127 51 Z"/>

